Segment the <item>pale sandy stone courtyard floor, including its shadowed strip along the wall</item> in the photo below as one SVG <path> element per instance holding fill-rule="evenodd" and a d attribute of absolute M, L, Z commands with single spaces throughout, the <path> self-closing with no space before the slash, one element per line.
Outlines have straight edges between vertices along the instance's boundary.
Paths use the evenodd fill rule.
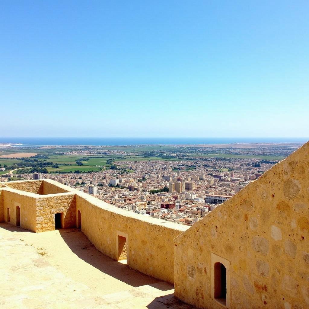
<path fill-rule="evenodd" d="M 104 256 L 77 229 L 32 233 L 0 223 L 2 309 L 191 309 L 173 286 Z"/>

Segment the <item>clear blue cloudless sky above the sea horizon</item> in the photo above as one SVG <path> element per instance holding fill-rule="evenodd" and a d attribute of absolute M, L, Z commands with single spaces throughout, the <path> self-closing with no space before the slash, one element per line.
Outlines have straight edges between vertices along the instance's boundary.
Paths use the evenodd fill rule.
<path fill-rule="evenodd" d="M 307 137 L 309 2 L 0 2 L 0 136 Z"/>

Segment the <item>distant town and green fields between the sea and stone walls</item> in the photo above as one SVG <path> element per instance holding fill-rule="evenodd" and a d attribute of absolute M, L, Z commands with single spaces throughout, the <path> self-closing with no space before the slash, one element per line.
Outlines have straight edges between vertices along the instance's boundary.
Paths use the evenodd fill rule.
<path fill-rule="evenodd" d="M 0 180 L 52 179 L 127 211 L 193 225 L 299 146 L 4 145 Z"/>

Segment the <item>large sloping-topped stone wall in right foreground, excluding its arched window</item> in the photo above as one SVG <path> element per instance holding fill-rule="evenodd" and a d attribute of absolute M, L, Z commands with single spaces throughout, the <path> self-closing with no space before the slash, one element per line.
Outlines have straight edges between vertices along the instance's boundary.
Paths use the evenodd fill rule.
<path fill-rule="evenodd" d="M 175 239 L 175 295 L 212 297 L 212 254 L 228 260 L 230 308 L 309 308 L 309 144 Z"/>

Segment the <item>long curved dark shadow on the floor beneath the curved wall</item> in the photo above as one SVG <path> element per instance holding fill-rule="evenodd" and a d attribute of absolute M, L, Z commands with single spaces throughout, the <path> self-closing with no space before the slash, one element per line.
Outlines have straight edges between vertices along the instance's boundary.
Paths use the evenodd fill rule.
<path fill-rule="evenodd" d="M 112 276 L 133 287 L 153 285 L 162 282 L 162 280 L 147 276 L 127 265 L 121 264 L 110 257 L 105 256 L 95 248 L 95 246 L 89 241 L 87 236 L 80 231 L 80 229 L 60 229 L 58 231 L 64 242 L 74 254 L 86 263 L 92 265 L 109 276 Z M 160 285 L 158 285 L 158 288 L 160 288 Z M 162 285 L 162 288 L 166 287 Z M 173 286 L 171 286 L 171 288 L 173 288 Z M 171 288 L 169 287 L 169 289 Z"/>

